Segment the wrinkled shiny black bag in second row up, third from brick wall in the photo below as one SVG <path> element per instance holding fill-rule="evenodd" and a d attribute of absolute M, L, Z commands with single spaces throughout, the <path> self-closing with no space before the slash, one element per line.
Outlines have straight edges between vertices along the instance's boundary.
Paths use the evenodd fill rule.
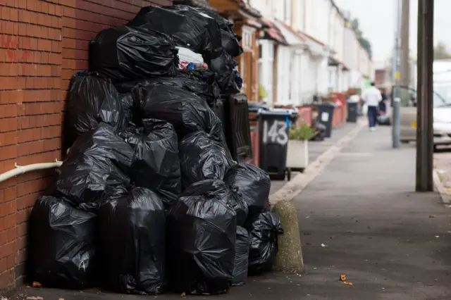
<path fill-rule="evenodd" d="M 221 143 L 203 131 L 194 132 L 182 139 L 179 155 L 183 188 L 201 180 L 223 180 L 234 163 Z"/>

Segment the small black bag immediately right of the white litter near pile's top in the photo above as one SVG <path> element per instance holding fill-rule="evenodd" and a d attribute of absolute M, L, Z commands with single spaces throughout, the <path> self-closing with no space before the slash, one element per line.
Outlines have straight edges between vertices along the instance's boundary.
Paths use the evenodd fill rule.
<path fill-rule="evenodd" d="M 240 75 L 235 70 L 238 63 L 226 50 L 223 50 L 221 56 L 218 58 L 209 61 L 208 65 L 210 70 L 218 74 L 216 82 L 218 83 L 219 89 L 221 89 L 221 94 L 235 94 L 240 92 L 240 87 L 238 86 L 238 77 Z"/>

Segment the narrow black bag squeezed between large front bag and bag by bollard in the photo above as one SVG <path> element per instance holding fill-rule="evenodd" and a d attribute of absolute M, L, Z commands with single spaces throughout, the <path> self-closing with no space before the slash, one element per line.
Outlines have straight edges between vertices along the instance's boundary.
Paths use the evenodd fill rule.
<path fill-rule="evenodd" d="M 233 279 L 231 282 L 233 287 L 245 285 L 247 281 L 249 247 L 249 232 L 244 227 L 238 226 L 237 240 L 235 242 L 235 263 L 233 265 Z"/>

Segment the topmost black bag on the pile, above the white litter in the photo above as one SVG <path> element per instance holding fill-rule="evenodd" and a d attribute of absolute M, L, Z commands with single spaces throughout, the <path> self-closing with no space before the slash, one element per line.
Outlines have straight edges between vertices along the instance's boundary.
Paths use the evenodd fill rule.
<path fill-rule="evenodd" d="M 141 8 L 128 25 L 164 32 L 171 36 L 178 46 L 191 49 L 207 58 L 216 58 L 221 54 L 221 32 L 218 23 L 191 6 L 147 6 Z"/>

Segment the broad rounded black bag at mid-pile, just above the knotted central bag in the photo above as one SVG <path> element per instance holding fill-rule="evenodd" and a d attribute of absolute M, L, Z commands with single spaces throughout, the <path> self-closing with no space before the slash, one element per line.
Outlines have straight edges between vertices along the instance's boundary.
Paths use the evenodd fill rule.
<path fill-rule="evenodd" d="M 203 130 L 221 140 L 223 129 L 206 101 L 180 87 L 157 83 L 138 85 L 133 89 L 134 99 L 140 101 L 142 118 L 157 118 L 171 123 L 178 138 Z"/>

